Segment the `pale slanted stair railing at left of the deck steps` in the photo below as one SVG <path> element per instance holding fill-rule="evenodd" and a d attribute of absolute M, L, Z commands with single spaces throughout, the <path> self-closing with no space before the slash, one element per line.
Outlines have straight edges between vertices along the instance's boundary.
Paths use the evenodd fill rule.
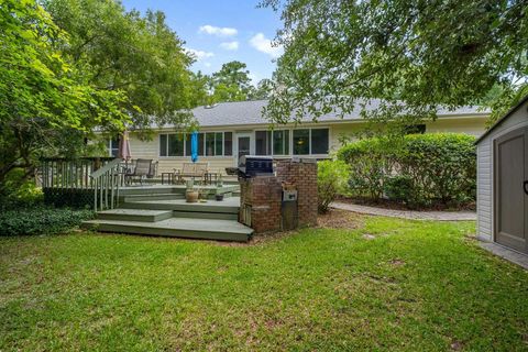
<path fill-rule="evenodd" d="M 121 158 L 114 158 L 91 173 L 94 210 L 113 209 L 118 206 L 119 186 L 122 184 Z"/>

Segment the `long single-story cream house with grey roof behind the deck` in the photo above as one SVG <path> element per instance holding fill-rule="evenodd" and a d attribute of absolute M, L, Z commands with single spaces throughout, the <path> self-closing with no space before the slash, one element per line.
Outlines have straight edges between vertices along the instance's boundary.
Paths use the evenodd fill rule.
<path fill-rule="evenodd" d="M 223 102 L 213 107 L 193 110 L 199 123 L 200 161 L 208 162 L 213 172 L 237 166 L 244 154 L 284 156 L 311 156 L 324 158 L 339 148 L 340 136 L 359 131 L 365 121 L 360 108 L 340 119 L 326 114 L 314 122 L 306 117 L 298 125 L 279 125 L 270 130 L 270 122 L 262 117 L 266 100 Z M 372 100 L 366 109 L 375 109 L 380 101 Z M 435 122 L 419 125 L 422 132 L 463 132 L 479 136 L 485 131 L 487 111 L 464 107 L 454 111 L 440 110 Z M 189 138 L 174 127 L 155 129 L 154 138 L 141 141 L 134 133 L 130 136 L 133 158 L 158 160 L 158 174 L 180 168 L 190 158 Z M 109 153 L 117 155 L 119 143 L 109 142 Z"/>

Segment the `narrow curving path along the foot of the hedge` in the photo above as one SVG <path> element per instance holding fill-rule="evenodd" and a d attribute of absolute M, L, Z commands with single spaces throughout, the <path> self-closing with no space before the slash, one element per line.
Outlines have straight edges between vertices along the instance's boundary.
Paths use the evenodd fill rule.
<path fill-rule="evenodd" d="M 465 221 L 476 220 L 475 211 L 414 211 L 414 210 L 393 210 L 385 208 L 375 208 L 367 206 L 358 206 L 345 202 L 334 201 L 331 208 L 348 210 L 370 216 L 392 217 L 410 220 L 437 220 L 437 221 Z"/>

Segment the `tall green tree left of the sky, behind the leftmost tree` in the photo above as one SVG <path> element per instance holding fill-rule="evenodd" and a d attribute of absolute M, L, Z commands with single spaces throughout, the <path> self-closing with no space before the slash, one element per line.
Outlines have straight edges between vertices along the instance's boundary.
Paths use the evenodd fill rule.
<path fill-rule="evenodd" d="M 127 12 L 113 0 L 47 0 L 57 25 L 69 33 L 64 51 L 90 72 L 99 89 L 120 90 L 133 127 L 187 123 L 198 103 L 199 85 L 184 42 L 165 22 L 163 12 Z"/>

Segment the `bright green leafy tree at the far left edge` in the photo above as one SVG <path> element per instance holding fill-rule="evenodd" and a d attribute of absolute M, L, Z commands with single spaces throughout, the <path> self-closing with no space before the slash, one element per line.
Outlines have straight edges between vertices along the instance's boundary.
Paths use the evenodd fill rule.
<path fill-rule="evenodd" d="M 119 90 L 97 89 L 57 48 L 66 34 L 34 0 L 0 6 L 0 196 L 15 168 L 32 175 L 34 162 L 66 135 L 127 122 Z"/>

